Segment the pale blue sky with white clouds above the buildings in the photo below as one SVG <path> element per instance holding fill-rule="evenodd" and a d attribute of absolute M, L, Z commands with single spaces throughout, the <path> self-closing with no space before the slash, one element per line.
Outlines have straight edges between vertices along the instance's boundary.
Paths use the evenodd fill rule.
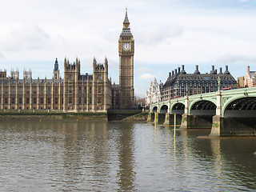
<path fill-rule="evenodd" d="M 134 89 L 145 97 L 150 81 L 163 83 L 185 65 L 194 73 L 229 66 L 234 78 L 256 70 L 256 0 L 3 0 L 0 2 L 0 70 L 32 70 L 52 78 L 55 58 L 109 61 L 118 83 L 118 38 L 126 7 L 134 35 Z M 219 71 L 219 70 L 218 70 Z"/>

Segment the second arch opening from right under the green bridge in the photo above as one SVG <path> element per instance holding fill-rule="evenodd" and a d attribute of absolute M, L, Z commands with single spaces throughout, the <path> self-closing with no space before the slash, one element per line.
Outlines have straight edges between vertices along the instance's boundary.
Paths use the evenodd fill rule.
<path fill-rule="evenodd" d="M 216 101 L 210 99 L 198 99 L 191 102 L 189 107 L 190 115 L 215 115 Z"/>

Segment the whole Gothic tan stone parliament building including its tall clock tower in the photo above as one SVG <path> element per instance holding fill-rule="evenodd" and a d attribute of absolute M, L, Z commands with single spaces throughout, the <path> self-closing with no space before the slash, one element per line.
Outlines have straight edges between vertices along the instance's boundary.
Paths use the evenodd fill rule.
<path fill-rule="evenodd" d="M 93 74 L 81 74 L 80 60 L 64 60 L 64 77 L 54 63 L 53 78 L 33 79 L 30 70 L 0 71 L 0 110 L 62 110 L 106 112 L 134 109 L 134 37 L 126 16 L 118 40 L 119 85 L 108 78 L 108 61 L 93 59 Z"/>

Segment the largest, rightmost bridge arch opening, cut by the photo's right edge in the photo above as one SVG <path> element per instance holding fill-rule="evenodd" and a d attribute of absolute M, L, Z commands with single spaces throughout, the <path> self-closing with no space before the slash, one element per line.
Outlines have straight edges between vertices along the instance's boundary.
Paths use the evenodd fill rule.
<path fill-rule="evenodd" d="M 256 117 L 256 95 L 246 95 L 228 99 L 222 106 L 224 118 L 255 118 Z"/>

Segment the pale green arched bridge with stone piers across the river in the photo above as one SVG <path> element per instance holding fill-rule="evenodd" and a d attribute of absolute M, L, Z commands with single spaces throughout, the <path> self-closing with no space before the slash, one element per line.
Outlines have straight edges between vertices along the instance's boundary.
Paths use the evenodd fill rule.
<path fill-rule="evenodd" d="M 150 112 L 156 121 L 164 115 L 165 124 L 173 114 L 182 115 L 181 128 L 211 127 L 213 136 L 251 135 L 256 130 L 256 87 L 174 98 L 151 104 Z"/>

